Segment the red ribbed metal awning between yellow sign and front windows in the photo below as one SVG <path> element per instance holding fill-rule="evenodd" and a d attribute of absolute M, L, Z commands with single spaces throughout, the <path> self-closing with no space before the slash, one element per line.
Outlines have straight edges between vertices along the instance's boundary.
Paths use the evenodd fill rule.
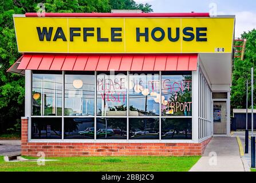
<path fill-rule="evenodd" d="M 19 60 L 17 70 L 192 71 L 198 55 L 24 54 Z"/>

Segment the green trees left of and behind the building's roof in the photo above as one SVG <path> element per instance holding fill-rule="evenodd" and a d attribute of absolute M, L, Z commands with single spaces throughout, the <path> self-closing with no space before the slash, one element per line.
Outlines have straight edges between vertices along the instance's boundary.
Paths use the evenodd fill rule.
<path fill-rule="evenodd" d="M 18 53 L 13 14 L 37 12 L 44 3 L 46 12 L 91 13 L 111 12 L 111 9 L 141 9 L 151 12 L 151 5 L 132 0 L 0 0 L 0 133 L 6 132 L 24 116 L 24 77 L 7 73 L 21 54 Z"/>

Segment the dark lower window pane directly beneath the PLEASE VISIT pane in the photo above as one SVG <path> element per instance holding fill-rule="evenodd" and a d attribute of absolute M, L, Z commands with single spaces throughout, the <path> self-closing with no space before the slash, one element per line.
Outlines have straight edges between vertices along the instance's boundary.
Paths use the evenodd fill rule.
<path fill-rule="evenodd" d="M 97 139 L 127 139 L 127 118 L 97 118 Z"/>

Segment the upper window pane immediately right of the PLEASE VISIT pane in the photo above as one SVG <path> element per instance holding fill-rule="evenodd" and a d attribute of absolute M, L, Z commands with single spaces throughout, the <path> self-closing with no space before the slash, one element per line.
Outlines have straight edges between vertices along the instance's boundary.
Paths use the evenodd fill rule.
<path fill-rule="evenodd" d="M 129 116 L 159 116 L 159 73 L 130 73 Z"/>

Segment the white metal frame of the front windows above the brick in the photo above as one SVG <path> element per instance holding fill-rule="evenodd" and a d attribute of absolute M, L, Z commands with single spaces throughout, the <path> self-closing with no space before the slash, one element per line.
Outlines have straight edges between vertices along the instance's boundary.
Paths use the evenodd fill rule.
<path fill-rule="evenodd" d="M 154 71 L 155 72 L 155 71 Z M 159 89 L 160 89 L 160 94 L 162 96 L 162 71 L 158 71 L 159 72 Z M 28 141 L 29 142 L 70 142 L 70 143 L 75 143 L 75 142 L 103 142 L 103 143 L 193 143 L 193 142 L 197 142 L 198 139 L 194 138 L 194 134 L 198 133 L 198 132 L 194 132 L 197 131 L 193 128 L 193 124 L 194 124 L 194 118 L 196 116 L 194 116 L 192 113 L 192 116 L 162 116 L 162 110 L 161 110 L 161 102 L 159 103 L 159 116 L 129 116 L 129 108 L 127 107 L 127 116 L 97 116 L 97 71 L 94 71 L 94 116 L 75 116 L 78 118 L 94 118 L 94 129 L 96 129 L 96 118 L 100 117 L 100 118 L 127 118 L 127 133 L 129 133 L 129 118 L 159 118 L 159 140 L 129 140 L 129 135 L 127 135 L 127 140 L 101 140 L 101 139 L 96 139 L 96 133 L 94 133 L 94 140 L 87 140 L 87 139 L 64 139 L 64 118 L 67 117 L 74 117 L 74 116 L 64 116 L 64 100 L 65 100 L 65 71 L 62 71 L 62 116 L 32 116 L 31 115 L 31 106 L 32 106 L 32 101 L 31 101 L 31 92 L 32 92 L 32 78 L 33 78 L 33 70 L 29 70 L 29 77 L 28 79 L 26 78 L 26 82 L 29 82 L 30 84 L 30 90 L 29 93 L 27 94 L 27 96 L 29 96 L 28 100 L 29 100 L 29 122 L 28 122 Z M 26 73 L 27 74 L 27 73 Z M 127 71 L 127 81 L 129 81 L 129 74 L 130 71 Z M 192 71 L 192 88 L 194 88 L 195 82 L 193 80 L 193 74 L 198 74 L 198 70 L 197 71 Z M 198 84 L 198 83 L 196 83 Z M 192 96 L 193 96 L 193 91 L 192 90 Z M 199 97 L 199 96 L 198 96 Z M 27 100 L 27 98 L 26 98 Z M 193 100 L 193 97 L 192 97 Z M 129 87 L 127 87 L 127 106 L 129 106 Z M 31 134 L 30 134 L 30 130 L 31 130 L 31 118 L 33 117 L 61 117 L 62 118 L 62 138 L 61 140 L 54 140 L 54 139 L 32 139 L 31 138 Z M 192 139 L 191 140 L 162 140 L 161 139 L 161 134 L 162 134 L 162 118 L 192 118 Z"/>

